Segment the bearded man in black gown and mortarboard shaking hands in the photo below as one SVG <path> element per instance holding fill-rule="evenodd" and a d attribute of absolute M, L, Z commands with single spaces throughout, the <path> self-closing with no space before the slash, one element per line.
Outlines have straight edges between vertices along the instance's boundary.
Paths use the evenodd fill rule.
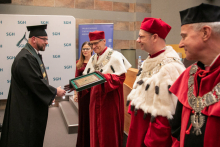
<path fill-rule="evenodd" d="M 48 106 L 55 96 L 65 95 L 49 85 L 39 51 L 45 51 L 47 25 L 27 27 L 28 43 L 16 56 L 11 68 L 11 85 L 0 140 L 1 147 L 41 147 Z"/>

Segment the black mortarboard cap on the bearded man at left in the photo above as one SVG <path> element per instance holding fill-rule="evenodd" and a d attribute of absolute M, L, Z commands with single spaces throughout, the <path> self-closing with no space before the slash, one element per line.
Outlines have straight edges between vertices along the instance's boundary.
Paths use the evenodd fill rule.
<path fill-rule="evenodd" d="M 47 36 L 47 25 L 37 25 L 37 26 L 27 26 L 28 31 L 30 31 L 29 38 L 35 36 Z"/>

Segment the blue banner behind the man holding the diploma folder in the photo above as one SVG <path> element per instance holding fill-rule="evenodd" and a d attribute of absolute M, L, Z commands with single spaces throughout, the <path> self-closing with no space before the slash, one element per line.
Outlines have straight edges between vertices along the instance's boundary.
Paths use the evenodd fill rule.
<path fill-rule="evenodd" d="M 83 42 L 89 41 L 89 32 L 94 31 L 104 31 L 105 32 L 105 39 L 106 39 L 106 46 L 113 48 L 113 30 L 114 24 L 107 23 L 107 24 L 79 24 L 79 52 L 78 52 L 78 59 L 81 53 L 81 47 Z"/>

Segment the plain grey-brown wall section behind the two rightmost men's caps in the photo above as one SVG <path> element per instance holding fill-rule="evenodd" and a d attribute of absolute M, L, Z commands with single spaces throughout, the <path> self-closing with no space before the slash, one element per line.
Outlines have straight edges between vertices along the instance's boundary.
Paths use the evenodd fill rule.
<path fill-rule="evenodd" d="M 161 18 L 168 23 L 172 29 L 166 38 L 167 44 L 179 44 L 180 37 L 180 15 L 179 11 L 199 5 L 201 3 L 209 3 L 220 6 L 220 1 L 215 0 L 208 2 L 207 0 L 152 0 L 152 17 Z"/>

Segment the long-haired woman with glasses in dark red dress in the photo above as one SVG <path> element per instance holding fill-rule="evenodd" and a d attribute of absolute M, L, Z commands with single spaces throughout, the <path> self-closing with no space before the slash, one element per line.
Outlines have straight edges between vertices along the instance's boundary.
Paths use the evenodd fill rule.
<path fill-rule="evenodd" d="M 87 62 L 92 56 L 93 50 L 88 45 L 89 42 L 84 42 L 81 48 L 81 55 L 78 61 L 76 61 L 76 73 L 75 77 L 81 76 Z M 90 127 L 89 127 L 89 103 L 90 103 L 90 91 L 88 89 L 74 92 L 74 101 L 78 102 L 79 112 L 79 126 L 77 136 L 77 147 L 90 147 Z"/>

